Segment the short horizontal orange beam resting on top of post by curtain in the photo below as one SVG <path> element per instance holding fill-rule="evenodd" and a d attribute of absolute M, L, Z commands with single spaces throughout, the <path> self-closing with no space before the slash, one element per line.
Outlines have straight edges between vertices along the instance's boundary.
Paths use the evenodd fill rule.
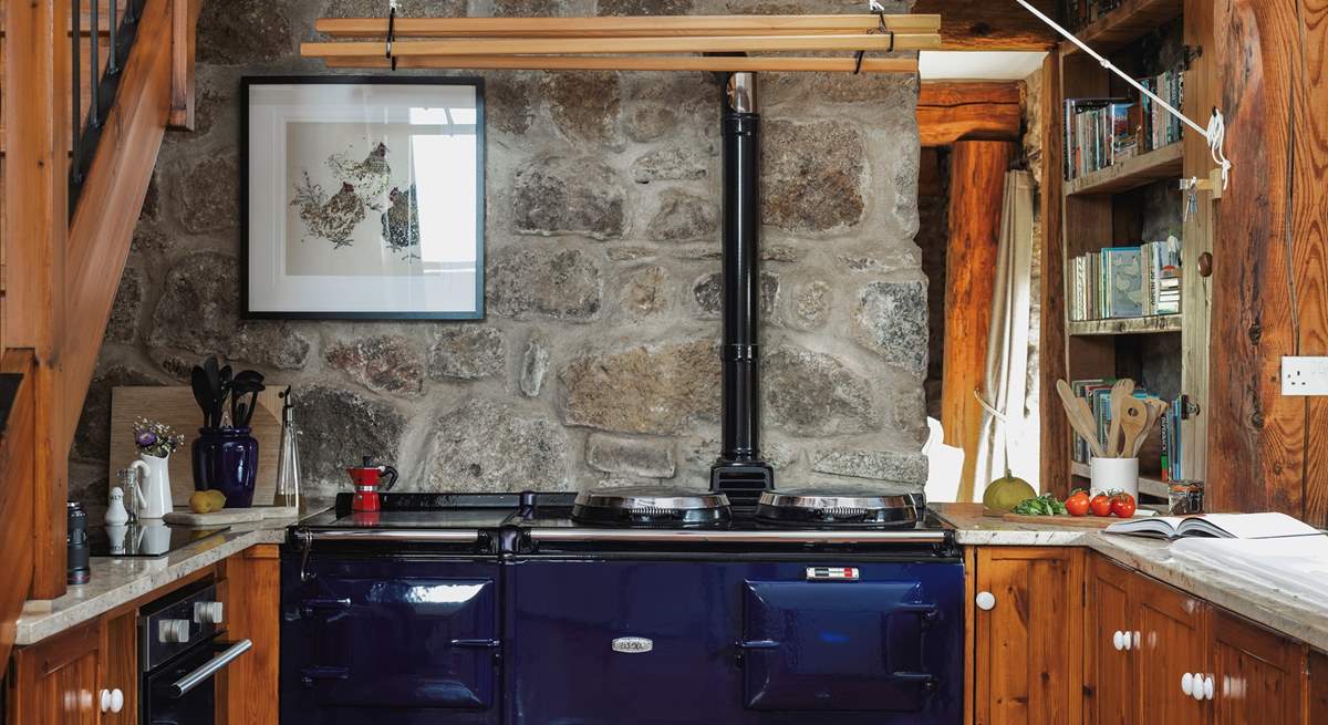
<path fill-rule="evenodd" d="M 1023 121 L 1019 81 L 924 82 L 918 96 L 918 133 L 923 146 L 1017 141 Z"/>

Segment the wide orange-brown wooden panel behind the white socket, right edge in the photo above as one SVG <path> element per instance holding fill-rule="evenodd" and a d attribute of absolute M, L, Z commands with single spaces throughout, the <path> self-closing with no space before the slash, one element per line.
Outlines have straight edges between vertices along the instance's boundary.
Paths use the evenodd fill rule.
<path fill-rule="evenodd" d="M 1220 0 L 1214 13 L 1236 175 L 1214 243 L 1210 509 L 1324 524 L 1328 406 L 1283 397 L 1280 359 L 1328 352 L 1328 11 L 1324 0 Z"/>

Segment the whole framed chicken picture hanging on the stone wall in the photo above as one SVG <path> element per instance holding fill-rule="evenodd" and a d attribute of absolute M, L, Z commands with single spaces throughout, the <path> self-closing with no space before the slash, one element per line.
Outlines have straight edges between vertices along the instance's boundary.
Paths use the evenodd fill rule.
<path fill-rule="evenodd" d="M 485 315 L 481 78 L 246 77 L 243 315 Z"/>

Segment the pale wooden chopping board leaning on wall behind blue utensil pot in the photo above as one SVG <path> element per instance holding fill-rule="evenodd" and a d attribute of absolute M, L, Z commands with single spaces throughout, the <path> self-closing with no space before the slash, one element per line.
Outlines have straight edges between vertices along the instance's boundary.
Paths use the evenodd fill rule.
<path fill-rule="evenodd" d="M 258 477 L 254 481 L 254 505 L 272 503 L 276 493 L 276 455 L 282 446 L 282 398 L 286 386 L 268 386 L 258 396 L 250 421 L 258 440 Z M 116 486 L 116 474 L 138 459 L 134 446 L 134 421 L 147 418 L 171 426 L 185 436 L 185 445 L 170 457 L 170 493 L 175 505 L 185 505 L 194 495 L 194 441 L 203 425 L 203 412 L 194 402 L 194 392 L 178 386 L 126 386 L 110 392 L 110 470 L 108 481 Z"/>

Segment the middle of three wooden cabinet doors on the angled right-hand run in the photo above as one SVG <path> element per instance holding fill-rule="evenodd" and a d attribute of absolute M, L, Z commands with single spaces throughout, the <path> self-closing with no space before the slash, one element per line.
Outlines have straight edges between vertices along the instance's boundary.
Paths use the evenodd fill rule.
<path fill-rule="evenodd" d="M 1206 605 L 1143 575 L 1131 582 L 1133 659 L 1137 669 L 1135 722 L 1199 725 L 1208 720 L 1208 704 L 1182 689 L 1186 673 L 1206 673 Z M 1129 692 L 1129 690 L 1127 690 Z"/>

